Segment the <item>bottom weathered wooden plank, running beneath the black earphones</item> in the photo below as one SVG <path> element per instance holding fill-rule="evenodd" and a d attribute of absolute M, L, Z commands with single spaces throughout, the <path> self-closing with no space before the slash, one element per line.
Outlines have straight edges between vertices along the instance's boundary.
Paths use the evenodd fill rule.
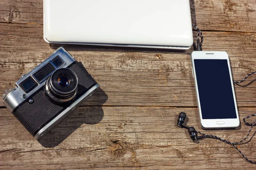
<path fill-rule="evenodd" d="M 38 142 L 7 109 L 0 109 L 0 169 L 254 167 L 233 147 L 215 139 L 193 143 L 187 130 L 176 126 L 181 111 L 189 117 L 187 125 L 201 130 L 196 108 L 80 107 Z M 240 119 L 255 111 L 240 108 Z M 236 130 L 201 131 L 239 141 L 248 130 L 242 123 Z M 252 140 L 240 149 L 256 159 L 255 146 Z"/>

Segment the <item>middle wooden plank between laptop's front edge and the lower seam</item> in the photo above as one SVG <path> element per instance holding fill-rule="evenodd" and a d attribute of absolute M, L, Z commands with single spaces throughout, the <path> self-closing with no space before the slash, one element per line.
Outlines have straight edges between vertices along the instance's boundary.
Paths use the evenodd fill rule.
<path fill-rule="evenodd" d="M 3 28 L 0 29 L 2 95 L 21 75 L 43 62 L 61 45 L 44 42 L 42 26 L 3 23 L 0 26 Z M 255 33 L 205 32 L 204 36 L 204 50 L 227 51 L 230 55 L 234 79 L 243 79 L 247 73 L 255 71 Z M 192 49 L 63 46 L 83 62 L 105 91 L 96 93 L 84 105 L 197 106 L 191 71 Z M 253 79 L 255 76 L 243 85 Z M 256 106 L 256 83 L 246 88 L 235 87 L 239 107 Z M 0 106 L 3 106 L 2 99 Z"/>

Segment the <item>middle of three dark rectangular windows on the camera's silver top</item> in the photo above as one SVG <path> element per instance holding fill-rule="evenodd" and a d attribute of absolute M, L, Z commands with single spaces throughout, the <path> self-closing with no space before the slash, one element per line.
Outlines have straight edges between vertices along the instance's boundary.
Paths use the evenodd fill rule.
<path fill-rule="evenodd" d="M 52 65 L 52 63 L 48 62 L 46 65 L 40 68 L 37 72 L 35 72 L 33 74 L 33 77 L 40 83 L 55 70 L 56 68 Z"/>

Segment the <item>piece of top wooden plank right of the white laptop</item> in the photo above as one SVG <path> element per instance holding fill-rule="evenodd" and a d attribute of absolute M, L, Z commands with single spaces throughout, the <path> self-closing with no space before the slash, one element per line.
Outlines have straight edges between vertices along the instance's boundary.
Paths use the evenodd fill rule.
<path fill-rule="evenodd" d="M 202 30 L 256 32 L 255 0 L 193 1 L 192 22 Z"/>

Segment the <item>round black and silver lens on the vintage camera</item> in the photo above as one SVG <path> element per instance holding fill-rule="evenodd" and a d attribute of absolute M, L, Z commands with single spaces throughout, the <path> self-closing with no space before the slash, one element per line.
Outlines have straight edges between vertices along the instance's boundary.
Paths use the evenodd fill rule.
<path fill-rule="evenodd" d="M 70 102 L 77 92 L 78 78 L 68 69 L 61 68 L 52 73 L 45 84 L 45 91 L 55 102 Z"/>

